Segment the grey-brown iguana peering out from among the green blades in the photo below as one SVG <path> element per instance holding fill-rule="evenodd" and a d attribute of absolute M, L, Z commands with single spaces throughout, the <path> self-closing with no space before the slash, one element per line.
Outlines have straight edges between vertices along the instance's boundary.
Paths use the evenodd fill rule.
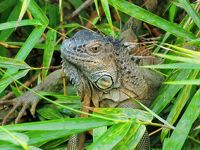
<path fill-rule="evenodd" d="M 93 31 L 81 30 L 63 42 L 62 66 L 72 83 L 78 87 L 79 95 L 83 96 L 87 92 L 95 107 L 140 108 L 130 100 L 130 97 L 137 98 L 149 106 L 157 94 L 163 77 L 152 70 L 139 67 L 135 63 L 134 56 L 130 55 L 134 48 L 137 48 L 137 44 L 104 37 Z M 58 70 L 50 74 L 34 90 L 53 90 L 51 87 L 60 85 L 57 82 L 62 78 L 61 72 Z M 28 92 L 16 98 L 20 101 L 14 104 L 3 123 L 19 106 L 23 107 L 16 122 L 30 106 L 34 114 L 39 97 L 30 94 L 32 93 Z M 26 101 L 26 95 L 32 98 Z M 16 99 L 10 103 L 16 102 Z M 4 103 L 6 102 L 1 102 Z M 143 139 L 140 148 L 149 149 L 148 136 L 144 136 Z"/>

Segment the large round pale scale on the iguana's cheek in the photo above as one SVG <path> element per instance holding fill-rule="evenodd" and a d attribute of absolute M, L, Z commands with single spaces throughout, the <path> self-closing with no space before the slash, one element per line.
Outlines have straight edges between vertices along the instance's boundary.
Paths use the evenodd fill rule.
<path fill-rule="evenodd" d="M 109 75 L 103 75 L 96 81 L 96 86 L 100 89 L 108 89 L 112 86 L 113 79 Z"/>

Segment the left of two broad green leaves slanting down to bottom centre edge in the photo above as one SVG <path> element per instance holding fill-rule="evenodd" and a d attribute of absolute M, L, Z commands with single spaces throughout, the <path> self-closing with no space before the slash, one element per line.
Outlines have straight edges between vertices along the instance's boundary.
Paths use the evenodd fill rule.
<path fill-rule="evenodd" d="M 88 150 L 102 150 L 112 149 L 117 143 L 119 143 L 123 137 L 127 134 L 131 123 L 116 124 L 110 127 L 98 141 L 92 143 L 87 149 Z"/>

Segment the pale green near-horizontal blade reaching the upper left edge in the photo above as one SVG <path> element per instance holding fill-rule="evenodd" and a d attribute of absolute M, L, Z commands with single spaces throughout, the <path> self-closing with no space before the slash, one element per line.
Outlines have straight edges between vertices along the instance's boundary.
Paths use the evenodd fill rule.
<path fill-rule="evenodd" d="M 39 20 L 36 19 L 27 19 L 27 20 L 22 20 L 19 23 L 17 21 L 10 21 L 6 23 L 1 23 L 0 24 L 0 30 L 6 30 L 10 28 L 16 28 L 17 26 L 30 26 L 30 25 L 42 25 Z"/>

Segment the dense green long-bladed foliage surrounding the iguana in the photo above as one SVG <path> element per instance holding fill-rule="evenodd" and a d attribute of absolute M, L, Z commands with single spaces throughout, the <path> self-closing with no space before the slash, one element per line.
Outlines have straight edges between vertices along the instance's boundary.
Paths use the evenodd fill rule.
<path fill-rule="evenodd" d="M 200 3 L 133 2 L 94 0 L 74 15 L 72 12 L 83 4 L 82 0 L 0 1 L 2 98 L 32 91 L 27 85 L 36 85 L 58 68 L 64 38 L 82 28 L 117 38 L 130 17 L 143 22 L 136 26 L 141 25 L 135 30 L 137 36 L 159 37 L 150 46 L 163 64 L 143 67 L 157 69 L 166 76 L 159 95 L 150 108 L 144 107 L 145 112 L 98 108 L 88 118 L 69 118 L 84 113 L 71 85 L 67 86 L 67 96 L 35 93 L 44 99 L 38 105 L 36 118 L 28 114 L 21 122 L 29 123 L 0 126 L 0 149 L 66 149 L 68 137 L 91 129 L 93 142 L 86 140 L 87 149 L 134 149 L 145 125 L 150 131 L 152 149 L 200 148 Z M 8 108 L 0 107 L 0 120 Z"/>

